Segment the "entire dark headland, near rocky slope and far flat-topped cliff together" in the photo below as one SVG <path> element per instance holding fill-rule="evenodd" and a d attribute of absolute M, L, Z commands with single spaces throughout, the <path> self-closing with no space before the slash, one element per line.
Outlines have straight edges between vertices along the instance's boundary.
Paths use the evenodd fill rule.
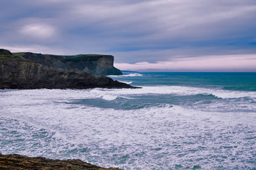
<path fill-rule="evenodd" d="M 43 55 L 0 49 L 0 89 L 134 88 L 103 74 L 122 74 L 112 55 Z M 100 75 L 101 74 L 101 75 Z"/>

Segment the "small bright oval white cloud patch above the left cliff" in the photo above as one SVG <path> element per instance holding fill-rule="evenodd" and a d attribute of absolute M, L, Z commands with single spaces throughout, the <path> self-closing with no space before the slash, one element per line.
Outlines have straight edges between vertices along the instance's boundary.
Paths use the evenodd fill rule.
<path fill-rule="evenodd" d="M 29 24 L 24 25 L 20 29 L 20 33 L 24 36 L 37 39 L 49 39 L 56 35 L 54 27 L 47 24 Z"/>

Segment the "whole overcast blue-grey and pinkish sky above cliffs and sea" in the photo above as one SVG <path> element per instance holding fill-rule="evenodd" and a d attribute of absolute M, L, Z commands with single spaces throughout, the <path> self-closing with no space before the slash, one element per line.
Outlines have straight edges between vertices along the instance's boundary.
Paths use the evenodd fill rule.
<path fill-rule="evenodd" d="M 119 69 L 256 71 L 255 0 L 1 0 L 0 48 L 104 53 Z"/>

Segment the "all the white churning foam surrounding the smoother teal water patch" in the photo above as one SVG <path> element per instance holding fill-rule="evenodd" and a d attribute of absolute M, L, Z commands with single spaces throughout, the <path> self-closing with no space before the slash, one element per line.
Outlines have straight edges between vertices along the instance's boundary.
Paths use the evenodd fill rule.
<path fill-rule="evenodd" d="M 255 92 L 175 86 L 6 90 L 0 93 L 0 125 L 4 127 L 0 129 L 1 153 L 82 159 L 124 169 L 255 166 L 251 149 L 256 148 L 253 112 L 202 111 L 170 104 L 140 110 L 70 104 L 76 99 L 111 101 L 141 94 L 225 94 L 221 97 L 232 99 L 255 96 Z M 236 104 L 235 101 L 230 107 Z"/>

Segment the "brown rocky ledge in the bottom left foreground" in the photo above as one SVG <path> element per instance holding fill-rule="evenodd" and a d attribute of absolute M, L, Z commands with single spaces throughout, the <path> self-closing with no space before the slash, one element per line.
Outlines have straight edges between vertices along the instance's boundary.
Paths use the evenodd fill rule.
<path fill-rule="evenodd" d="M 44 157 L 26 157 L 22 155 L 2 155 L 0 153 L 0 169 L 90 169 L 90 170 L 118 170 L 118 168 L 103 168 L 93 166 L 79 159 L 53 160 Z"/>

